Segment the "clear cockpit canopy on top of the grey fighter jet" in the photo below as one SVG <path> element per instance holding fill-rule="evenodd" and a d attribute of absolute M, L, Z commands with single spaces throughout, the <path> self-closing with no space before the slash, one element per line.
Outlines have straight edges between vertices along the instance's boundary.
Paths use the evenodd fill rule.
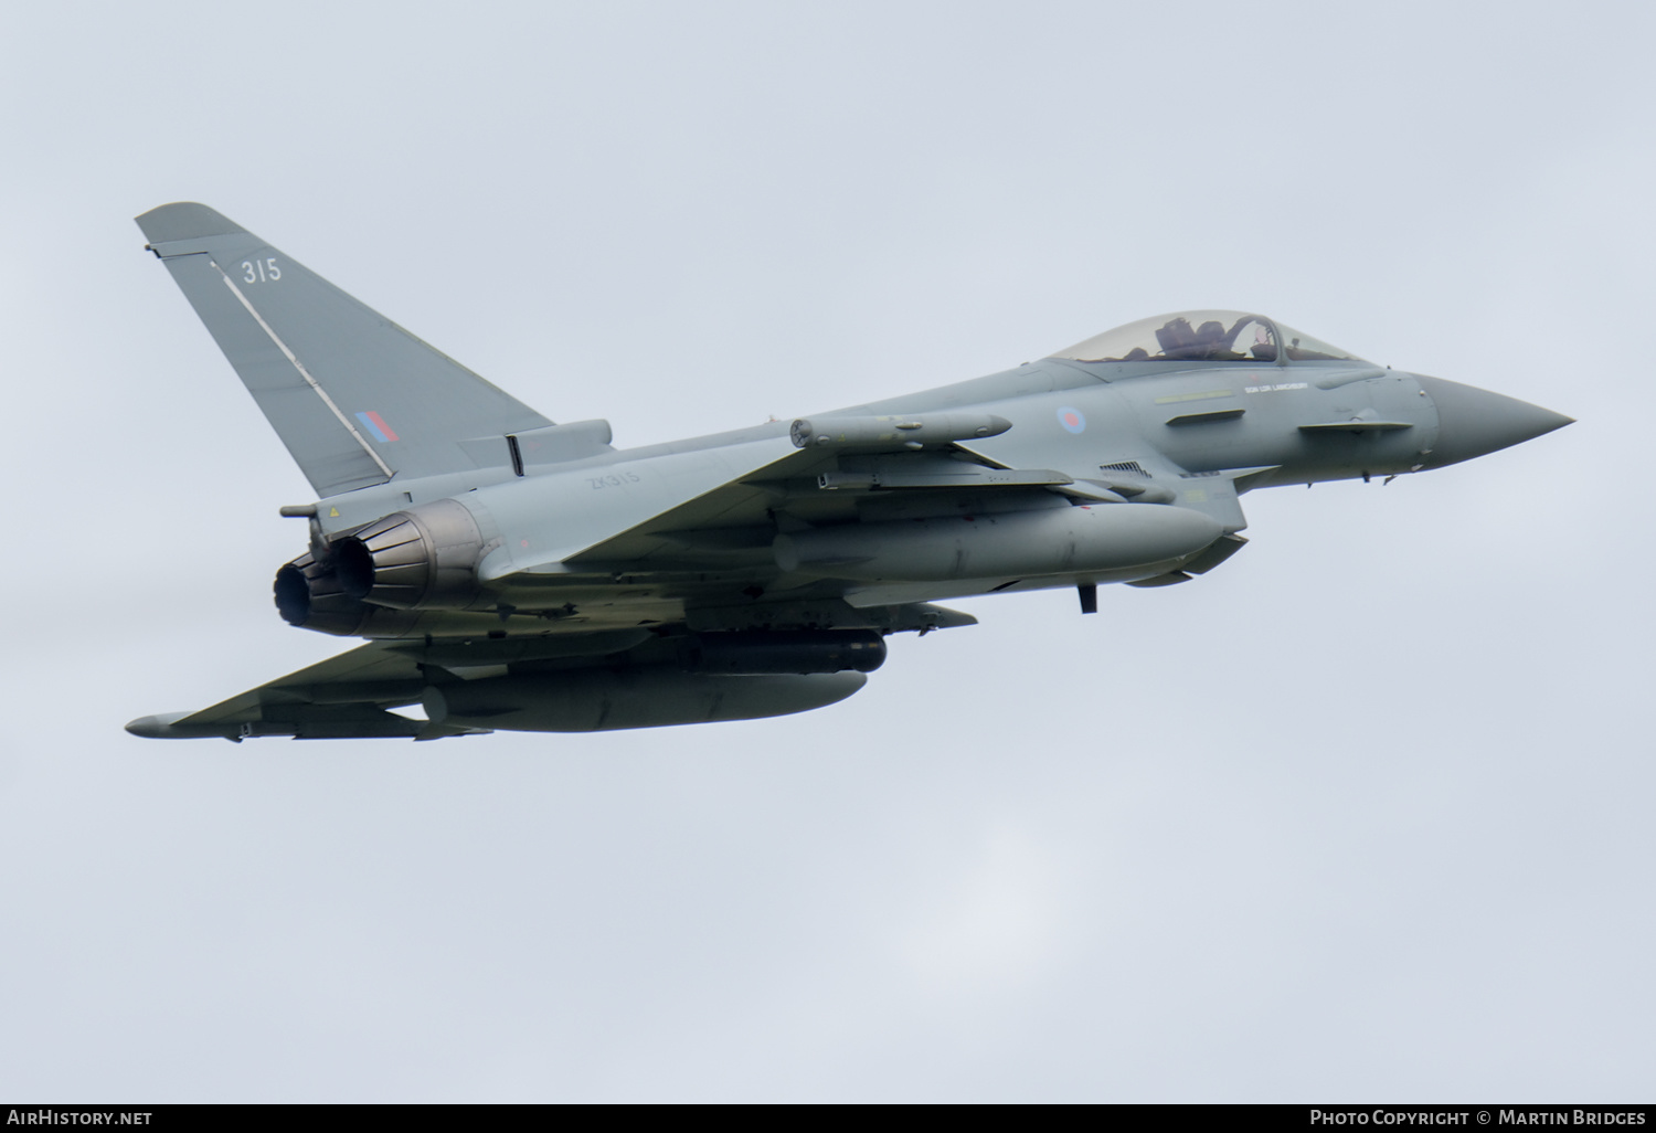
<path fill-rule="evenodd" d="M 1052 358 L 1073 361 L 1182 361 L 1272 363 L 1287 351 L 1288 361 L 1361 361 L 1292 326 L 1244 311 L 1181 311 L 1158 315 L 1060 350 Z"/>

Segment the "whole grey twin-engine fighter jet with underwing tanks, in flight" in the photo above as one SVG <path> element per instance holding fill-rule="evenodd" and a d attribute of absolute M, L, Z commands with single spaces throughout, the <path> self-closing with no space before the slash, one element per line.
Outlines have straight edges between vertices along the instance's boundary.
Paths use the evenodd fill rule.
<path fill-rule="evenodd" d="M 136 735 L 436 739 L 740 721 L 856 692 L 936 600 L 1182 583 L 1244 492 L 1570 419 L 1186 311 L 1005 373 L 643 449 L 553 424 L 199 204 L 137 219 L 316 490 L 282 616 L 368 644 Z M 426 721 L 392 709 L 419 704 Z"/>

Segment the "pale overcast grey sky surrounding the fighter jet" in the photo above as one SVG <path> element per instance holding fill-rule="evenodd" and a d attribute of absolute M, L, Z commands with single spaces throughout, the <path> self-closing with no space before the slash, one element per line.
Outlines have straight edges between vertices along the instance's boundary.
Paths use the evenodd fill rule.
<path fill-rule="evenodd" d="M 0 15 L 0 1095 L 1649 1100 L 1638 3 Z M 348 643 L 131 217 L 621 446 L 1262 310 L 1578 424 L 780 721 L 156 744 Z"/>

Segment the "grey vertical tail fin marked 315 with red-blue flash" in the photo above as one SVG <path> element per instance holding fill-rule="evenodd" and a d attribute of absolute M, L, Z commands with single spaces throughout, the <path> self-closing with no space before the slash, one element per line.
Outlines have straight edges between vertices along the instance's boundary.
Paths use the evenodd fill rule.
<path fill-rule="evenodd" d="M 551 424 L 207 205 L 137 225 L 318 497 L 470 470 L 462 441 Z"/>

